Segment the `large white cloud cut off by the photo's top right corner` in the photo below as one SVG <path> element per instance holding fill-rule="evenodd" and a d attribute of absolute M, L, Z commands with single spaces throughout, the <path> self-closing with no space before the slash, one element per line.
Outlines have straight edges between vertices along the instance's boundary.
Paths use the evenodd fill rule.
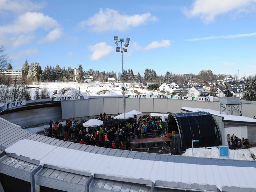
<path fill-rule="evenodd" d="M 191 8 L 182 12 L 188 17 L 200 17 L 205 23 L 212 22 L 217 15 L 236 11 L 250 12 L 255 9 L 256 0 L 195 0 Z"/>

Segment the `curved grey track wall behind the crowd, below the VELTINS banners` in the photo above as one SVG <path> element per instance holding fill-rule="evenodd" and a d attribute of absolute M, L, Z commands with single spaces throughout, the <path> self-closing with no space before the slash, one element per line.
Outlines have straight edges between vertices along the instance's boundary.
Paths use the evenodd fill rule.
<path fill-rule="evenodd" d="M 143 113 L 180 113 L 182 107 L 206 108 L 219 111 L 219 100 L 213 102 L 178 100 L 162 98 L 125 98 L 126 112 L 138 110 Z M 88 100 L 69 101 L 32 100 L 27 101 L 23 107 L 6 110 L 0 117 L 18 123 L 21 127 L 46 123 L 50 119 L 61 120 L 66 118 L 97 116 L 101 112 L 106 114 L 123 113 L 123 97 L 120 96 L 90 96 Z M 72 105 L 73 102 L 73 105 Z M 53 104 L 52 104 L 53 103 Z M 52 106 L 50 105 L 52 104 Z M 81 105 L 80 105 L 81 104 Z M 66 106 L 66 108 L 64 107 Z M 79 109 L 79 113 L 77 112 Z M 241 111 L 243 116 L 253 117 L 256 111 L 255 101 L 242 101 Z"/>

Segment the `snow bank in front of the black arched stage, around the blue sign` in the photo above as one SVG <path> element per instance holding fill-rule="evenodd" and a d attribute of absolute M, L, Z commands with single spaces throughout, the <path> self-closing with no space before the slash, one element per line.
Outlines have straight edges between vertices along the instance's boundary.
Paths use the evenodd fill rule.
<path fill-rule="evenodd" d="M 252 154 L 256 155 L 256 147 L 243 149 L 229 149 L 229 159 L 255 161 Z M 192 148 L 186 150 L 182 156 L 192 156 Z M 220 149 L 218 147 L 193 148 L 194 157 L 220 158 Z"/>

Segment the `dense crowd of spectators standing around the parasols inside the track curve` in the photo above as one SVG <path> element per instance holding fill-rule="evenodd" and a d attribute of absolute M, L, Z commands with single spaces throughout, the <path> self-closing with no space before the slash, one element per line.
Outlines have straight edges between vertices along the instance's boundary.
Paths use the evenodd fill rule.
<path fill-rule="evenodd" d="M 100 116 L 95 118 L 107 121 L 114 117 L 100 113 Z M 62 125 L 58 121 L 51 120 L 49 128 L 45 128 L 44 133 L 49 137 L 75 143 L 130 150 L 128 137 L 163 129 L 162 119 L 150 117 L 148 114 L 134 116 L 123 124 L 103 124 L 98 127 L 83 127 L 85 121 L 67 119 Z M 126 148 L 122 146 L 126 146 Z"/>

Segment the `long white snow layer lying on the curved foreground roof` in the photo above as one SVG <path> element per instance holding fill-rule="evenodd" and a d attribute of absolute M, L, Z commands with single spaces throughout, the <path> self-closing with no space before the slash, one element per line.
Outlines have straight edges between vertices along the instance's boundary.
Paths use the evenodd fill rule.
<path fill-rule="evenodd" d="M 237 178 L 236 174 L 231 174 L 249 172 L 249 175 L 253 175 L 256 172 L 254 167 L 186 164 L 107 156 L 55 147 L 33 140 L 19 140 L 6 148 L 5 152 L 39 160 L 40 165 L 47 164 L 92 175 L 106 175 L 112 179 L 115 177 L 129 180 L 144 179 L 154 183 L 163 181 L 161 183 L 168 182 L 170 186 L 176 188 L 193 185 L 197 188 L 200 186 L 202 190 L 209 190 L 209 186 L 216 186 L 220 191 L 226 186 L 256 189 L 255 177 Z"/>

